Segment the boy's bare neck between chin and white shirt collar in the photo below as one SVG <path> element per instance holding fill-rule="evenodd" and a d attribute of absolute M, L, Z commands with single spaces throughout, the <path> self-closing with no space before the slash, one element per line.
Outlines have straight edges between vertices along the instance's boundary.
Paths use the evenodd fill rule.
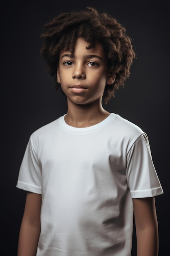
<path fill-rule="evenodd" d="M 77 105 L 68 103 L 68 111 L 65 121 L 68 125 L 74 127 L 88 127 L 103 121 L 110 113 L 103 107 L 102 103 Z"/>

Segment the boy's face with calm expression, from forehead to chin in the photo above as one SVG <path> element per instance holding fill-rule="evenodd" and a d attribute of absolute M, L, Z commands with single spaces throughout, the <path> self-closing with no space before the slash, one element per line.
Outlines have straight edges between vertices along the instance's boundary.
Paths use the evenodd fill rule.
<path fill-rule="evenodd" d="M 84 38 L 78 38 L 75 52 L 60 53 L 57 82 L 61 84 L 68 103 L 90 104 L 101 102 L 106 83 L 114 82 L 108 72 L 106 56 L 98 43 L 92 49 Z"/>

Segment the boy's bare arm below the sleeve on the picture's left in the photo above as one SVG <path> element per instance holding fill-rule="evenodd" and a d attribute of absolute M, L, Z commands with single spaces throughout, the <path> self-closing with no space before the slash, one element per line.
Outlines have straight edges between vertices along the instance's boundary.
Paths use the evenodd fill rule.
<path fill-rule="evenodd" d="M 17 256 L 35 256 L 40 236 L 41 195 L 28 192 L 20 227 Z"/>

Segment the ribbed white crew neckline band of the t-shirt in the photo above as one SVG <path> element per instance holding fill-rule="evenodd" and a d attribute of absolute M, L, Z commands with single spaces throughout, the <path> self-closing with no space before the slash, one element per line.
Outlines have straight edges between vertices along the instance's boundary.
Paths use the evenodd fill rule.
<path fill-rule="evenodd" d="M 94 124 L 92 126 L 88 126 L 88 127 L 74 127 L 74 126 L 70 126 L 66 123 L 64 117 L 66 116 L 63 115 L 62 117 L 60 117 L 60 126 L 67 131 L 70 132 L 89 132 L 92 130 L 96 130 L 101 128 L 102 126 L 108 124 L 111 120 L 113 120 L 113 118 L 115 118 L 116 114 L 114 113 L 110 113 L 110 115 L 108 115 L 108 117 L 106 117 L 104 120 L 102 120 L 101 122 Z"/>

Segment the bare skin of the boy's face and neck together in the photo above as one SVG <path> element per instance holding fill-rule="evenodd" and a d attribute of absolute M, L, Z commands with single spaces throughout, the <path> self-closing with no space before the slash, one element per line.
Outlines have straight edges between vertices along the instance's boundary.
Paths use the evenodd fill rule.
<path fill-rule="evenodd" d="M 57 82 L 66 94 L 67 124 L 86 127 L 105 119 L 108 113 L 102 107 L 102 96 L 106 83 L 115 81 L 115 73 L 108 71 L 106 56 L 101 45 L 87 50 L 88 43 L 78 38 L 75 52 L 61 51 L 57 67 Z M 72 87 L 84 88 L 72 88 Z"/>

